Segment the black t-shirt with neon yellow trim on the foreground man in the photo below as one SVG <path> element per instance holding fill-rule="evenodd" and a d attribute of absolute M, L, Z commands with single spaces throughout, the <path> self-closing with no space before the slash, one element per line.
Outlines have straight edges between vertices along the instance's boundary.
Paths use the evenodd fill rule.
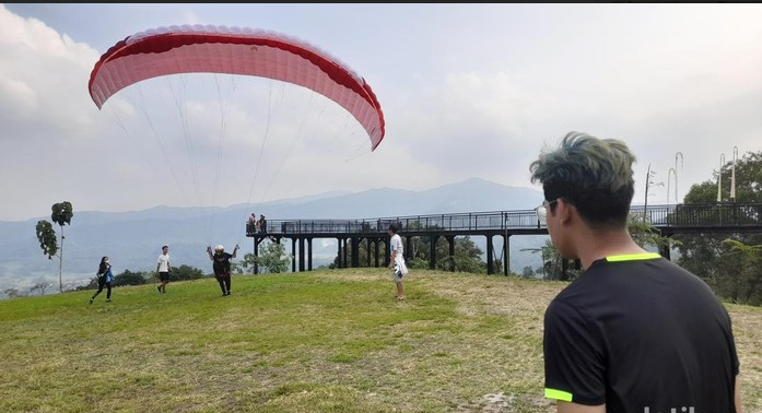
<path fill-rule="evenodd" d="M 736 412 L 730 317 L 706 283 L 657 253 L 593 262 L 548 306 L 543 352 L 550 399 L 622 413 Z"/>

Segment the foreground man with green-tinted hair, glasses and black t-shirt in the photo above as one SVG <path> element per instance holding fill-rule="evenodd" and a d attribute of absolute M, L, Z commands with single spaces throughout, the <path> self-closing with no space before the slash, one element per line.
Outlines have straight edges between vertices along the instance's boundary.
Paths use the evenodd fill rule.
<path fill-rule="evenodd" d="M 538 219 L 584 269 L 546 309 L 544 396 L 561 413 L 740 413 L 722 302 L 628 231 L 634 162 L 622 141 L 570 132 L 529 166 Z"/>

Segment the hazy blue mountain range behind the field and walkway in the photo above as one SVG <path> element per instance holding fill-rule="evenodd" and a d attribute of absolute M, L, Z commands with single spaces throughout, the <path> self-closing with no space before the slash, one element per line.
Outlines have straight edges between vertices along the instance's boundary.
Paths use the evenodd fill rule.
<path fill-rule="evenodd" d="M 163 245 L 169 246 L 175 267 L 187 264 L 211 272 L 206 253 L 208 245 L 223 244 L 232 250 L 239 244 L 242 256 L 253 251 L 251 238 L 245 234 L 245 223 L 251 213 L 263 214 L 269 220 L 357 220 L 528 210 L 541 200 L 542 192 L 538 189 L 507 187 L 480 178 L 423 191 L 379 188 L 225 208 L 160 205 L 142 211 L 97 212 L 77 211 L 75 200 L 70 200 L 74 206 L 71 224 L 62 228 L 54 224 L 54 228 L 59 235 L 62 229 L 65 236 L 62 280 L 65 286 L 71 287 L 86 284 L 94 276 L 102 256 L 110 258 L 115 274 L 124 270 L 155 271 Z M 7 288 L 23 292 L 46 282 L 55 284 L 48 291 L 58 291 L 59 259 L 48 259 L 43 253 L 35 234 L 39 220 L 51 221 L 50 216 L 0 221 L 0 294 Z M 511 270 L 520 272 L 527 266 L 539 267 L 537 256 L 520 249 L 539 247 L 544 239 L 546 236 L 512 237 Z M 472 240 L 485 250 L 484 239 Z M 290 245 L 286 251 L 291 251 Z M 315 240 L 313 266 L 331 262 L 336 253 L 336 240 Z"/>

